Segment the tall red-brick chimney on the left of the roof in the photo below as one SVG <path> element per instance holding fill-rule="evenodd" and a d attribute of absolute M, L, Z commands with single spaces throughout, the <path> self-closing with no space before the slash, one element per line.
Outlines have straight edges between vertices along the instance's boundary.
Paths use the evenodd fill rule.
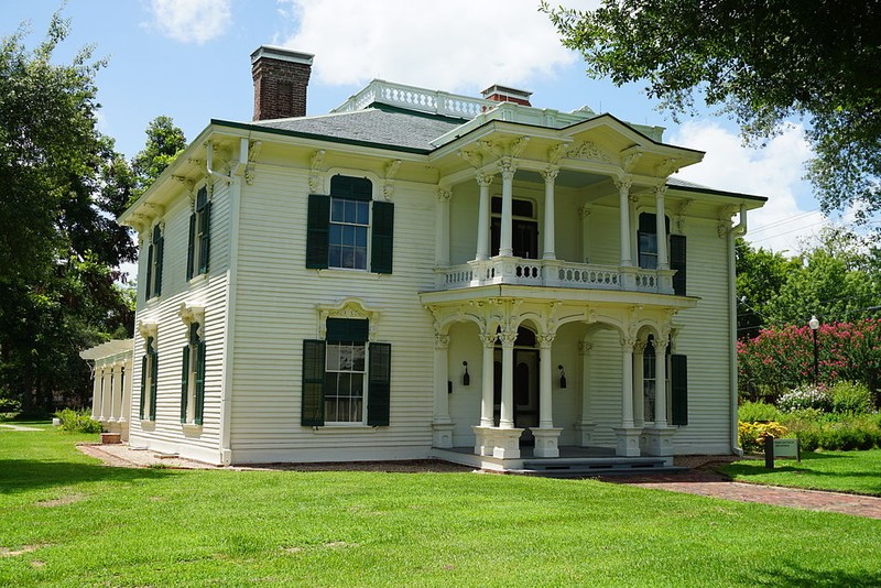
<path fill-rule="evenodd" d="M 254 119 L 306 116 L 306 87 L 312 74 L 309 53 L 261 45 L 251 54 Z"/>

